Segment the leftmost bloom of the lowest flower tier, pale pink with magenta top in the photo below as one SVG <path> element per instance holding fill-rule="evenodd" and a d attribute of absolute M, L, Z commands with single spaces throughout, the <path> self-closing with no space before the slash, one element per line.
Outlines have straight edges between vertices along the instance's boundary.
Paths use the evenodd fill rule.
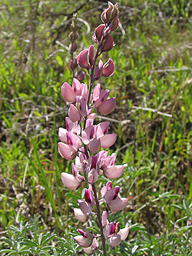
<path fill-rule="evenodd" d="M 83 248 L 90 247 L 94 239 L 94 234 L 89 233 L 87 229 L 78 229 L 77 231 L 81 235 L 74 237 L 74 240 Z"/>

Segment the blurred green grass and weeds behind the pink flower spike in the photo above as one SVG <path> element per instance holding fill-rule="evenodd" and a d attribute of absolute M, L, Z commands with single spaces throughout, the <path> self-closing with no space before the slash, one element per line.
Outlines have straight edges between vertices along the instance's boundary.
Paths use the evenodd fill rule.
<path fill-rule="evenodd" d="M 123 214 L 112 215 L 111 221 L 118 218 L 131 232 L 111 254 L 192 255 L 192 6 L 187 0 L 118 4 L 116 45 L 102 56 L 104 62 L 114 60 L 116 71 L 100 82 L 117 98 L 109 118 L 118 140 L 109 151 L 126 164 L 113 185 L 130 197 Z M 25 252 L 3 254 L 30 255 L 24 238 L 31 233 L 22 237 L 18 232 L 19 240 L 12 225 L 31 223 L 37 213 L 38 227 L 34 231 L 31 224 L 31 232 L 42 237 L 50 231 L 47 242 L 55 241 L 55 232 L 62 248 L 50 246 L 48 255 L 79 250 L 65 248 L 79 226 L 72 209 L 83 188 L 69 192 L 60 181 L 59 172 L 71 171 L 70 162 L 57 153 L 58 128 L 65 127 L 68 115 L 61 85 L 72 80 L 68 34 L 73 13 L 78 12 L 78 55 L 93 43 L 107 6 L 107 1 L 0 0 L 0 236 L 15 234 L 15 243 L 25 244 Z M 95 221 L 89 223 L 93 228 Z M 14 246 L 2 238 L 0 248 Z"/>

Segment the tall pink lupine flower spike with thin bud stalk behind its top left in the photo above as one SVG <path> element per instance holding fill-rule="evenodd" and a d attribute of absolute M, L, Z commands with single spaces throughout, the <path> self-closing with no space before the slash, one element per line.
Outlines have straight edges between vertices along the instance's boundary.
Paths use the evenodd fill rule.
<path fill-rule="evenodd" d="M 103 211 L 101 217 L 101 208 L 99 201 L 103 201 L 108 211 L 120 211 L 127 205 L 127 198 L 118 198 L 119 187 L 112 188 L 112 182 L 108 181 L 101 188 L 102 198 L 98 198 L 98 191 L 95 182 L 100 175 L 105 178 L 119 178 L 124 165 L 114 165 L 116 154 L 108 155 L 108 151 L 101 148 L 109 148 L 114 145 L 117 135 L 108 134 L 109 121 L 103 121 L 94 125 L 95 112 L 98 115 L 108 115 L 114 110 L 116 105 L 115 98 L 109 98 L 109 90 L 101 91 L 101 85 L 94 86 L 94 81 L 98 81 L 101 76 L 109 77 L 114 74 L 114 62 L 111 58 L 103 65 L 102 60 L 98 62 L 98 57 L 103 52 L 109 52 L 114 47 L 114 40 L 111 32 L 118 28 L 118 3 L 113 5 L 108 2 L 108 8 L 101 14 L 101 20 L 104 22 L 95 28 L 92 36 L 93 42 L 97 44 L 94 55 L 94 45 L 81 51 L 77 58 L 74 58 L 74 52 L 77 44 L 74 42 L 78 38 L 76 32 L 75 17 L 71 23 L 71 33 L 69 38 L 71 45 L 71 70 L 73 73 L 72 86 L 65 82 L 61 87 L 61 93 L 67 104 L 68 117 L 65 118 L 66 129 L 59 128 L 58 152 L 61 157 L 71 160 L 72 174 L 61 173 L 61 181 L 69 189 L 78 189 L 81 183 L 85 182 L 88 188 L 84 189 L 84 199 L 78 199 L 79 208 L 74 208 L 75 217 L 81 221 L 88 221 L 91 214 L 96 214 L 98 218 L 98 227 L 100 234 L 92 234 L 88 229 L 78 229 L 80 235 L 75 236 L 74 240 L 81 245 L 86 254 L 93 254 L 95 250 L 100 251 L 97 238 L 101 238 L 102 253 L 107 256 L 106 241 L 113 247 L 118 246 L 122 240 L 127 238 L 128 228 L 119 230 L 119 224 L 109 223 L 107 211 Z M 98 64 L 97 64 L 98 63 Z M 90 85 L 81 83 L 82 75 L 75 75 L 74 68 L 79 65 L 85 68 L 90 76 Z M 82 176 L 81 174 L 84 174 Z M 94 212 L 96 208 L 96 213 Z"/>

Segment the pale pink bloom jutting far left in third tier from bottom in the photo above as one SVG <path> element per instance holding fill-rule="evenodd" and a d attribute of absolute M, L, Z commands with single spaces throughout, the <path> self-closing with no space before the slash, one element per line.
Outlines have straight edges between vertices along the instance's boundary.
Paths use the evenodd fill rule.
<path fill-rule="evenodd" d="M 81 187 L 81 182 L 84 181 L 84 177 L 78 174 L 77 169 L 72 164 L 72 175 L 61 172 L 61 181 L 69 189 L 76 189 Z"/>

